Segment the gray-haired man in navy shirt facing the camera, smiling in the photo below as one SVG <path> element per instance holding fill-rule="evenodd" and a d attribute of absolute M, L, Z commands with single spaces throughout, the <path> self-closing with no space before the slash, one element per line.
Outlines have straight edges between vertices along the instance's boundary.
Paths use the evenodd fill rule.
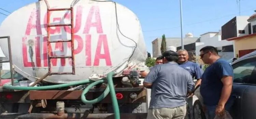
<path fill-rule="evenodd" d="M 201 83 L 201 76 L 202 76 L 202 69 L 199 67 L 198 64 L 188 61 L 188 52 L 185 49 L 178 50 L 177 53 L 179 54 L 179 66 L 186 69 L 192 78 L 197 79 L 195 87 L 199 86 Z M 187 114 L 185 119 L 193 119 L 193 97 L 190 96 L 187 99 L 188 107 L 187 107 Z"/>

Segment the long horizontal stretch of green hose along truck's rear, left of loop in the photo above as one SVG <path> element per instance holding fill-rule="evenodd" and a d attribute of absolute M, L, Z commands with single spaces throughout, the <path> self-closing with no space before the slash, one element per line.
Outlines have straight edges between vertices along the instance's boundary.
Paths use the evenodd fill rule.
<path fill-rule="evenodd" d="M 14 83 L 18 83 L 19 81 L 20 80 L 15 80 Z M 10 83 L 8 84 L 6 83 L 3 85 L 3 87 L 11 90 L 49 90 L 49 89 L 63 88 L 63 87 L 74 86 L 74 85 L 81 85 L 81 84 L 86 84 L 91 82 L 94 82 L 94 81 L 86 79 L 86 80 L 76 81 L 72 83 L 57 84 L 57 85 L 51 85 L 51 86 L 39 86 L 39 87 L 11 86 Z"/>

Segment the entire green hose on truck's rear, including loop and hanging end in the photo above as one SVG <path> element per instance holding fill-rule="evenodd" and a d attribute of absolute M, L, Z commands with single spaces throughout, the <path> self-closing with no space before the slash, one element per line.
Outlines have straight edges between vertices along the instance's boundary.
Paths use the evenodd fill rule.
<path fill-rule="evenodd" d="M 72 83 L 57 84 L 57 85 L 51 85 L 51 86 L 39 86 L 39 87 L 12 86 L 11 83 L 6 83 L 3 85 L 3 87 L 6 89 L 11 89 L 11 90 L 49 90 L 49 89 L 56 89 L 56 88 L 63 88 L 63 87 L 68 87 L 68 86 L 91 83 L 84 89 L 84 91 L 81 95 L 82 102 L 85 104 L 98 103 L 98 102 L 102 101 L 110 92 L 112 106 L 113 106 L 114 113 L 115 113 L 115 119 L 120 119 L 120 112 L 119 112 L 119 107 L 118 107 L 118 103 L 117 103 L 117 99 L 116 99 L 115 88 L 114 88 L 114 83 L 113 83 L 113 78 L 112 78 L 113 75 L 114 75 L 114 72 L 110 72 L 110 73 L 108 73 L 106 78 L 103 78 L 103 79 L 101 79 L 99 81 L 95 81 L 95 82 L 92 80 L 86 79 L 86 80 L 76 81 L 76 82 L 72 82 Z M 102 84 L 105 79 L 108 80 L 108 86 L 106 87 L 104 92 L 98 98 L 96 98 L 94 100 L 86 100 L 85 94 L 89 91 L 89 89 L 94 87 L 97 84 Z M 19 81 L 21 81 L 21 80 L 15 80 L 14 83 L 18 83 Z"/>

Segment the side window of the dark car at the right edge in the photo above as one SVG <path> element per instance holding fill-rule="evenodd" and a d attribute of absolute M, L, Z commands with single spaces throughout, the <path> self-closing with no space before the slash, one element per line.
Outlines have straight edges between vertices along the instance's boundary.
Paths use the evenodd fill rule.
<path fill-rule="evenodd" d="M 256 58 L 242 60 L 232 65 L 234 71 L 234 83 L 256 84 Z"/>

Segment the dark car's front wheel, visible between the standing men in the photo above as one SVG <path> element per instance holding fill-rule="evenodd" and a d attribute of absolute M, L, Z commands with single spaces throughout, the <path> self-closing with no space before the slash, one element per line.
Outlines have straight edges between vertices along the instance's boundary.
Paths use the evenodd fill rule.
<path fill-rule="evenodd" d="M 194 119 L 206 119 L 203 112 L 203 106 L 201 105 L 199 100 L 195 101 L 193 106 L 193 112 L 194 112 Z"/>

